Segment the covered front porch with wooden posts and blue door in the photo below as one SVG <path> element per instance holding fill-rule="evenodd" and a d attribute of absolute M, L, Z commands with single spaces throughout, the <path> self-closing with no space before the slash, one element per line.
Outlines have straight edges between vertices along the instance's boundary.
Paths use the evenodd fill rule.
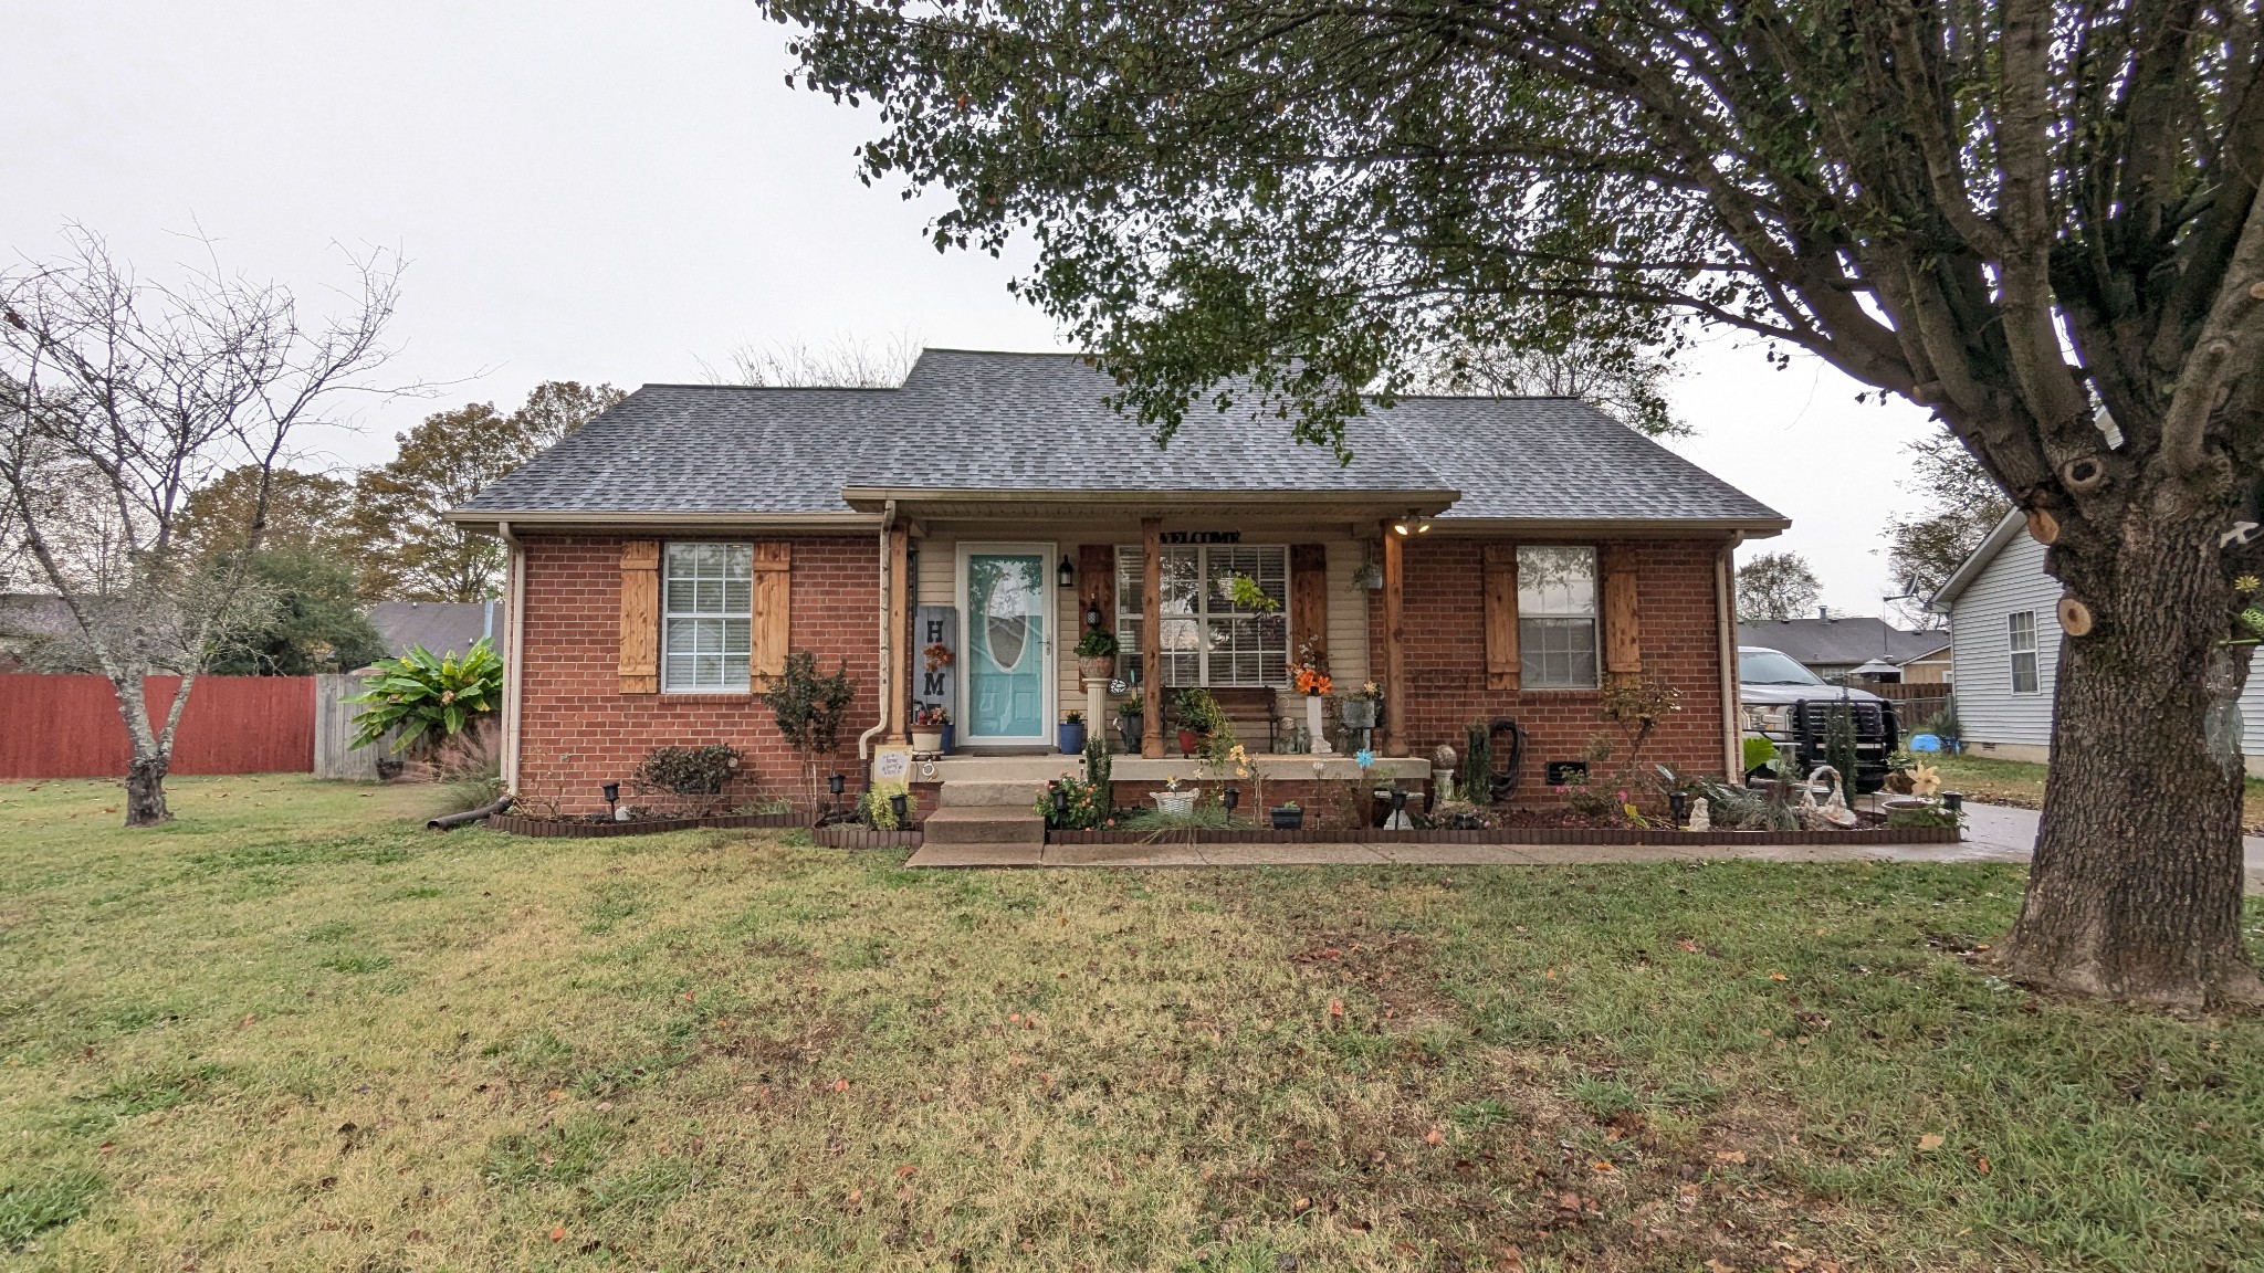
<path fill-rule="evenodd" d="M 1320 779 L 1356 779 L 1352 750 L 1410 750 L 1388 707 L 1408 677 L 1401 548 L 1453 492 L 844 494 L 890 535 L 883 743 L 933 766 L 931 781 L 974 781 L 974 759 L 1055 777 L 1075 759 L 1064 723 L 1121 752 L 1118 779 L 1193 777 L 1175 704 L 1191 689 L 1218 702 L 1266 779 L 1311 781 L 1315 761 Z M 1297 664 L 1333 680 L 1318 738 Z M 1336 707 L 1363 684 L 1386 702 L 1365 734 Z"/>

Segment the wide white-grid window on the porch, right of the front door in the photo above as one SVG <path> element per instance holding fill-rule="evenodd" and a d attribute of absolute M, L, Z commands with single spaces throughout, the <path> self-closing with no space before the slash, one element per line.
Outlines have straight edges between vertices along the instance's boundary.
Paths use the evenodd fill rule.
<path fill-rule="evenodd" d="M 1288 546 L 1170 546 L 1159 562 L 1164 591 L 1157 623 L 1166 686 L 1279 686 L 1288 682 Z M 1257 582 L 1275 609 L 1234 600 L 1234 578 Z M 1146 562 L 1139 544 L 1116 546 L 1116 675 L 1141 684 L 1141 596 Z"/>

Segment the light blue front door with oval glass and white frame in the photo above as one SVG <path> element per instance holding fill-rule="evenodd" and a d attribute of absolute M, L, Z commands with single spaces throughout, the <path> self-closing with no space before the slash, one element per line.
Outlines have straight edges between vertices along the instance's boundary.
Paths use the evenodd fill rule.
<path fill-rule="evenodd" d="M 967 553 L 964 741 L 1046 741 L 1046 553 Z"/>

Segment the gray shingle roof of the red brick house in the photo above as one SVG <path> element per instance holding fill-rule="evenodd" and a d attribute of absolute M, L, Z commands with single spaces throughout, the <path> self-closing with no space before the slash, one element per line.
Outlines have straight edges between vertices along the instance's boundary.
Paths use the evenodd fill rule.
<path fill-rule="evenodd" d="M 842 487 L 1463 492 L 1449 519 L 1784 519 L 1576 399 L 1410 399 L 1349 426 L 1352 464 L 1284 419 L 1200 405 L 1157 451 L 1073 353 L 928 349 L 897 390 L 645 385 L 460 514 L 822 514 Z"/>

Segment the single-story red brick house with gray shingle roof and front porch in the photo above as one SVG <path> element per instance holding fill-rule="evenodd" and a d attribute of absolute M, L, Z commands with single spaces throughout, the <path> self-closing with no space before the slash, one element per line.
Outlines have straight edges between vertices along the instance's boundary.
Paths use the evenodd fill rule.
<path fill-rule="evenodd" d="M 822 763 L 851 784 L 921 709 L 951 716 L 951 754 L 912 759 L 924 809 L 1073 766 L 1055 727 L 1114 736 L 1109 682 L 1146 707 L 1121 804 L 1198 777 L 1180 686 L 1275 791 L 1345 786 L 1288 686 L 1300 650 L 1338 691 L 1379 684 L 1372 775 L 1410 791 L 1438 743 L 1515 720 L 1519 797 L 1546 800 L 1635 673 L 1682 693 L 1648 759 L 1736 770 L 1730 555 L 1784 530 L 1773 510 L 1576 399 L 1408 399 L 1338 464 L 1247 410 L 1198 408 L 1159 451 L 1109 390 L 1078 356 L 946 349 L 894 390 L 645 385 L 487 487 L 451 519 L 509 544 L 507 784 L 586 811 L 650 747 L 731 743 L 747 795 L 799 795 L 758 698 L 792 650 L 856 682 Z M 1089 625 L 1118 636 L 1109 677 L 1073 655 Z"/>

